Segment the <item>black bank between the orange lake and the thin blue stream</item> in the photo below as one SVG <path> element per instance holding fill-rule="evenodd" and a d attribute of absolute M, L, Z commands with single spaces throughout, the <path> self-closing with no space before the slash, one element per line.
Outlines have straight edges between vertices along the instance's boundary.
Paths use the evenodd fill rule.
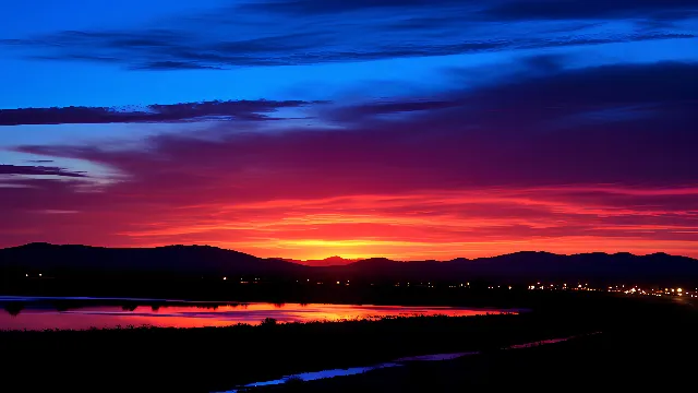
<path fill-rule="evenodd" d="M 292 373 L 681 320 L 674 302 L 610 297 L 522 314 L 204 329 L 0 332 L 8 391 L 213 392 Z M 678 317 L 677 317 L 678 315 Z M 604 333 L 605 334 L 605 333 Z M 10 389 L 12 385 L 22 389 Z"/>

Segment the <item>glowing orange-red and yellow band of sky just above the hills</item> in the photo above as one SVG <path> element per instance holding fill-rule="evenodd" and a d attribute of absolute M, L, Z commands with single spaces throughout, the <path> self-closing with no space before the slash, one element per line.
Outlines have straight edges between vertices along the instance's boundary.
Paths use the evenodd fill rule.
<path fill-rule="evenodd" d="M 63 219 L 71 227 L 51 231 L 49 236 L 59 239 L 46 241 L 105 247 L 210 245 L 293 260 L 339 255 L 443 261 L 517 251 L 667 252 L 697 258 L 696 214 L 673 204 L 673 198 L 691 196 L 698 198 L 698 189 L 577 186 L 219 202 L 125 216 L 52 215 L 47 219 Z M 651 198 L 652 203 L 637 198 Z M 83 241 L 81 228 L 92 228 L 95 221 L 115 223 L 116 235 L 106 237 L 110 241 L 99 237 Z"/>

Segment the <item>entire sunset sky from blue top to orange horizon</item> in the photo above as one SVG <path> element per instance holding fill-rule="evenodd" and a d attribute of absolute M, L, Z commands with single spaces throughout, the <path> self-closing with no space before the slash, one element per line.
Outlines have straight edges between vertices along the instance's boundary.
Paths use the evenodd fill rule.
<path fill-rule="evenodd" d="M 35 0 L 0 247 L 698 258 L 698 4 Z"/>

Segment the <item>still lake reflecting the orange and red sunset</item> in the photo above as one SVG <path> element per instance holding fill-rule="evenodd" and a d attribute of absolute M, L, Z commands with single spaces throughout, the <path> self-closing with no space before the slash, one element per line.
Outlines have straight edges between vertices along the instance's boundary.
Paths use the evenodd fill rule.
<path fill-rule="evenodd" d="M 92 327 L 204 327 L 238 323 L 339 321 L 384 317 L 468 317 L 517 310 L 324 303 L 197 302 L 130 298 L 39 298 L 0 296 L 0 330 Z"/>

